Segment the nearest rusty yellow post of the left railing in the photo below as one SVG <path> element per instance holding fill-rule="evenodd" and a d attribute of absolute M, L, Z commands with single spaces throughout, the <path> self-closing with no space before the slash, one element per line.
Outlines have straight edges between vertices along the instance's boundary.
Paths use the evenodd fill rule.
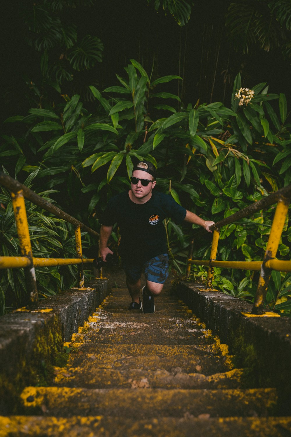
<path fill-rule="evenodd" d="M 30 260 L 29 267 L 24 267 L 24 274 L 27 290 L 29 292 L 30 306 L 34 309 L 38 306 L 38 288 L 32 259 L 31 240 L 28 230 L 23 191 L 19 190 L 16 193 L 11 192 L 11 197 L 21 254 Z"/>

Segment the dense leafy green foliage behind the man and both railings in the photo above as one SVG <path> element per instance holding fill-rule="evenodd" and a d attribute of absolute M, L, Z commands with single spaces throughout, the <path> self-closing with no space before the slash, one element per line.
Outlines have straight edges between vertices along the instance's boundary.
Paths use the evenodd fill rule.
<path fill-rule="evenodd" d="M 4 168 L 21 181 L 25 173 L 30 173 L 27 184 L 34 178 L 38 192 L 50 194 L 62 209 L 97 231 L 108 198 L 130 187 L 135 159 L 146 158 L 157 166 L 155 189 L 216 222 L 290 183 L 291 138 L 284 94 L 269 94 L 266 83 L 260 83 L 252 87 L 254 96 L 250 102 L 243 103 L 236 98 L 241 88 L 237 75 L 231 108 L 220 102 L 197 102 L 194 106 L 182 106 L 178 112 L 179 97 L 167 92 L 167 83 L 178 76 L 153 79 L 134 59 L 125 72 L 125 78 L 117 75 L 118 85 L 103 92 L 90 87 L 95 101 L 91 111 L 75 94 L 65 97 L 63 103 L 46 102 L 45 107 L 40 103 L 26 116 L 7 119 L 17 138 L 3 136 L 0 156 Z M 12 208 L 5 191 L 1 203 L 5 213 L 5 220 L 1 221 L 1 250 L 4 254 L 16 254 L 15 229 L 7 228 L 12 223 Z M 68 249 L 72 233 L 68 235 L 59 220 L 27 206 L 34 253 L 67 256 L 72 250 Z M 218 259 L 261 260 L 273 214 L 274 207 L 270 207 L 264 214 L 257 213 L 224 227 Z M 181 228 L 171 220 L 165 226 L 173 267 L 181 273 L 192 228 L 196 226 Z M 60 230 L 58 237 L 56 228 Z M 89 236 L 86 238 L 89 245 L 96 245 Z M 113 240 L 112 247 L 116 249 L 118 229 L 114 229 Z M 280 259 L 286 259 L 290 241 L 291 228 L 286 221 L 279 246 Z M 205 235 L 195 237 L 194 257 L 207 259 L 209 253 L 210 241 Z M 43 276 L 37 273 L 42 294 L 62 288 L 59 270 L 53 269 L 49 283 L 46 269 L 40 271 Z M 257 281 L 253 281 L 256 279 L 253 272 L 245 275 L 241 271 L 216 269 L 216 273 L 214 285 L 223 291 L 247 298 L 254 294 Z M 21 273 L 1 274 L 2 305 L 5 296 L 14 296 L 7 302 L 19 305 L 23 289 Z M 16 285 L 15 275 L 20 277 L 20 285 Z M 193 267 L 192 277 L 205 277 L 205 269 Z M 283 305 L 278 309 L 290 309 L 288 277 L 281 283 L 281 274 L 272 275 L 267 296 L 271 307 L 277 303 Z M 73 282 L 73 277 L 69 281 Z"/>

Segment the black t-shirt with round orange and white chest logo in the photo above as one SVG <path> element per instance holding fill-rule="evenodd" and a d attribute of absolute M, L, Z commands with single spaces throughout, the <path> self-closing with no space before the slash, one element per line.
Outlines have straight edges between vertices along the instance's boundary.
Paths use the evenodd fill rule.
<path fill-rule="evenodd" d="M 167 253 L 166 217 L 179 225 L 186 216 L 186 209 L 169 194 L 152 191 L 149 201 L 137 204 L 130 200 L 128 191 L 110 199 L 101 217 L 105 226 L 115 223 L 120 228 L 119 253 L 123 260 L 147 261 Z"/>

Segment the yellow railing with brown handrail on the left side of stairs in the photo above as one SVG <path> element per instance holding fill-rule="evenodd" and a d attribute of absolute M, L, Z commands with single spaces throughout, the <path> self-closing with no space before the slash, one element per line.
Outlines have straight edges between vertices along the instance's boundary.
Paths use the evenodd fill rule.
<path fill-rule="evenodd" d="M 68 215 L 61 209 L 57 208 L 52 203 L 46 201 L 38 194 L 31 191 L 25 185 L 20 184 L 12 177 L 7 176 L 0 171 L 0 185 L 7 188 L 11 192 L 12 204 L 14 209 L 17 234 L 21 248 L 21 257 L 0 257 L 0 268 L 24 267 L 25 281 L 27 291 L 30 295 L 30 306 L 36 308 L 38 306 L 38 289 L 34 267 L 41 266 L 61 266 L 61 265 L 78 265 L 78 286 L 84 287 L 84 263 L 92 263 L 93 259 L 83 258 L 81 228 L 89 232 L 91 235 L 99 238 L 98 232 L 79 222 L 76 218 Z M 31 239 L 29 235 L 27 215 L 25 209 L 24 198 L 30 200 L 34 204 L 40 206 L 48 212 L 64 219 L 66 222 L 72 223 L 75 227 L 75 244 L 76 258 L 35 258 L 32 254 Z"/>

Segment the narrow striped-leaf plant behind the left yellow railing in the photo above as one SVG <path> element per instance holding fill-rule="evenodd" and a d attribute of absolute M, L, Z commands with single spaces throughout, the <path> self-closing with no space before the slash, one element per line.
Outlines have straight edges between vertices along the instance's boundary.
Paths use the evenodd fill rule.
<path fill-rule="evenodd" d="M 8 174 L 3 167 L 3 172 Z M 32 180 L 38 170 L 29 174 L 24 184 L 32 186 Z M 46 201 L 55 190 L 38 191 Z M 0 247 L 3 256 L 19 256 L 20 247 L 15 226 L 14 212 L 10 193 L 1 187 L 0 194 Z M 34 257 L 75 257 L 74 230 L 62 219 L 51 216 L 37 205 L 25 201 L 28 228 Z M 86 244 L 85 244 L 86 247 Z M 68 267 L 68 268 L 67 268 Z M 39 296 L 55 295 L 64 288 L 73 287 L 76 283 L 75 266 L 37 267 L 36 277 Z M 28 303 L 23 269 L 7 269 L 0 271 L 0 314 L 6 307 L 15 308 Z"/>

